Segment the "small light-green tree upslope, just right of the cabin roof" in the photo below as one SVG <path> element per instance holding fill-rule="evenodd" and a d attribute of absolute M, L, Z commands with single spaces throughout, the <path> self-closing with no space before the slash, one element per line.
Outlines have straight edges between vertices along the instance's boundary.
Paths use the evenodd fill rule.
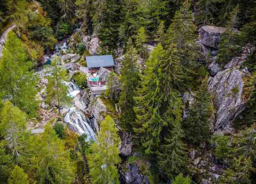
<path fill-rule="evenodd" d="M 138 49 L 138 53 L 140 57 L 143 59 L 146 59 L 146 48 L 144 44 L 147 41 L 147 35 L 146 35 L 146 30 L 144 27 L 141 27 L 138 29 L 138 34 L 135 36 L 136 38 L 136 47 Z"/>

